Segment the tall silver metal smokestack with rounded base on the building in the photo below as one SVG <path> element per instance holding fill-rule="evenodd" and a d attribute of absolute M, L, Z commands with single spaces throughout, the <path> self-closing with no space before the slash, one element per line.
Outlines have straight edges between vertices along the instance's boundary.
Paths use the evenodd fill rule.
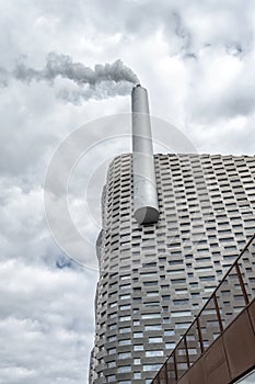
<path fill-rule="evenodd" d="M 146 88 L 134 87 L 131 101 L 134 215 L 139 224 L 157 223 L 160 212 Z"/>

